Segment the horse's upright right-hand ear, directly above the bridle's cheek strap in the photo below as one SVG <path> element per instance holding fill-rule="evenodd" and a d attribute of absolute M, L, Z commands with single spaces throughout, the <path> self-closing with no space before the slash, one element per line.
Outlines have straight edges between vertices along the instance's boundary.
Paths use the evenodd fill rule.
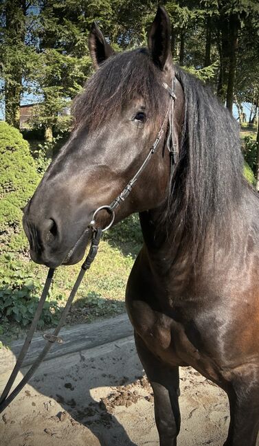
<path fill-rule="evenodd" d="M 158 7 L 148 32 L 148 48 L 157 67 L 162 71 L 172 71 L 171 25 L 163 6 Z"/>

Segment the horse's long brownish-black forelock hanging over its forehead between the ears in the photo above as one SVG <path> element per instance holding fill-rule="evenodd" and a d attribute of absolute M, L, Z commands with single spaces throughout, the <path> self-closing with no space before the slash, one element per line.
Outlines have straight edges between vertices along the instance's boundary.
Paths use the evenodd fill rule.
<path fill-rule="evenodd" d="M 148 49 L 135 49 L 112 56 L 87 80 L 74 100 L 75 125 L 98 129 L 135 98 L 142 98 L 154 126 L 161 125 L 168 102 L 161 71 Z"/>

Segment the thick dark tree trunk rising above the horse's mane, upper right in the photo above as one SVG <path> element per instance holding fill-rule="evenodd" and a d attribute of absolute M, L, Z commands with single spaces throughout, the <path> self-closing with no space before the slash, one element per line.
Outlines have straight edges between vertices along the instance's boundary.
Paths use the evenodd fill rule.
<path fill-rule="evenodd" d="M 236 52 L 238 49 L 238 16 L 229 19 L 229 73 L 227 82 L 227 109 L 232 113 L 234 102 L 234 85 L 236 79 Z"/>

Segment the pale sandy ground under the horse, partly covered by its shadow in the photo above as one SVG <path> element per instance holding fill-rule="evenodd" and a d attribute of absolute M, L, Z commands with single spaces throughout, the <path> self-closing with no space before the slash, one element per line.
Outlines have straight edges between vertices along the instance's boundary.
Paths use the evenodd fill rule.
<path fill-rule="evenodd" d="M 12 355 L 11 352 L 5 352 Z M 1 387 L 8 376 L 1 375 Z M 179 446 L 223 445 L 223 390 L 181 369 Z M 0 419 L 1 446 L 158 446 L 152 389 L 133 337 L 51 359 Z"/>

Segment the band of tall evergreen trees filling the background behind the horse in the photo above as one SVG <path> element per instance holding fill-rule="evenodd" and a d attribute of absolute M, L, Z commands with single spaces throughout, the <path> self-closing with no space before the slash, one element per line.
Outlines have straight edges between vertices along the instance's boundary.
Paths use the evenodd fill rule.
<path fill-rule="evenodd" d="M 259 71 L 256 0 L 163 3 L 172 23 L 174 62 L 210 82 L 230 111 L 234 100 L 241 109 L 249 96 L 256 112 L 251 93 Z M 51 139 L 53 130 L 67 122 L 60 112 L 91 74 L 88 34 L 93 20 L 117 51 L 132 49 L 146 45 L 156 8 L 157 0 L 2 0 L 0 94 L 6 120 L 19 126 L 21 97 L 38 93 L 42 102 L 34 122 Z"/>

